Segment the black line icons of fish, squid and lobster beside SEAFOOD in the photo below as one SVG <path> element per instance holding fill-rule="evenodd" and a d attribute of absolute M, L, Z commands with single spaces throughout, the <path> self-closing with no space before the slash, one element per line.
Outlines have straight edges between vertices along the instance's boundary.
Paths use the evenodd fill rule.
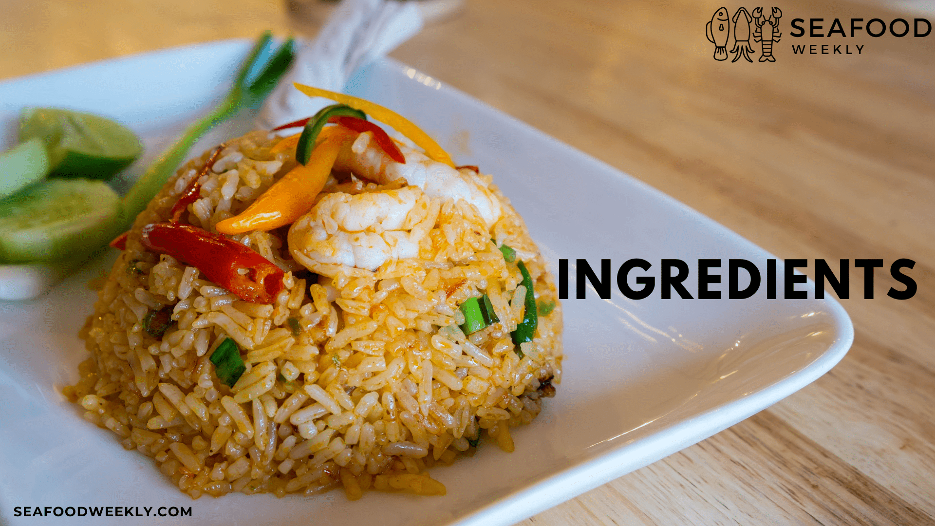
<path fill-rule="evenodd" d="M 730 62 L 737 62 L 743 57 L 747 62 L 753 62 L 750 55 L 756 51 L 750 45 L 750 38 L 760 44 L 759 62 L 776 62 L 772 56 L 773 42 L 779 42 L 783 36 L 779 31 L 779 19 L 783 18 L 783 11 L 779 7 L 773 7 L 770 16 L 763 16 L 763 7 L 756 7 L 751 14 L 745 7 L 734 11 L 734 16 L 730 16 L 726 7 L 721 7 L 714 11 L 711 22 L 705 33 L 708 40 L 714 44 L 714 60 L 727 60 L 727 44 L 730 38 L 734 39 L 734 46 L 730 53 L 733 53 L 734 59 Z"/>

